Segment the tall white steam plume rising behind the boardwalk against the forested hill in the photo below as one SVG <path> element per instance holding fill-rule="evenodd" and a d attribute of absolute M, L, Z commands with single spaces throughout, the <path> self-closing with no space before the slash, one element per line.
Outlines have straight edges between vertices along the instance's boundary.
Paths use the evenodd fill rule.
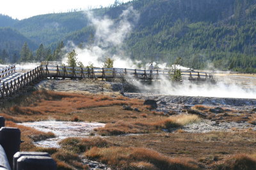
<path fill-rule="evenodd" d="M 135 68 L 140 61 L 132 61 L 124 56 L 124 39 L 129 36 L 134 24 L 140 18 L 138 11 L 132 6 L 124 10 L 118 21 L 111 20 L 108 16 L 96 18 L 91 11 L 85 12 L 93 27 L 95 27 L 95 38 L 93 44 L 88 44 L 85 48 L 77 48 L 74 43 L 69 42 L 65 47 L 67 51 L 76 50 L 77 60 L 83 62 L 84 66 L 93 64 L 94 67 L 102 67 L 105 57 L 114 59 L 114 67 Z M 109 50 L 115 49 L 115 54 Z M 67 58 L 63 60 L 67 62 Z"/>

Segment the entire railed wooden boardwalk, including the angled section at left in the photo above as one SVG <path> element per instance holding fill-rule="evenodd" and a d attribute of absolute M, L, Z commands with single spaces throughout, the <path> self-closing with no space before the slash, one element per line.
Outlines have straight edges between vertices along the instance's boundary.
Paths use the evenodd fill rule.
<path fill-rule="evenodd" d="M 211 73 L 181 71 L 182 80 L 213 81 Z M 31 86 L 44 78 L 83 79 L 94 78 L 108 80 L 122 78 L 127 81 L 160 81 L 170 79 L 170 70 L 126 69 L 126 68 L 82 68 L 40 65 L 27 73 L 15 72 L 15 65 L 0 69 L 0 97 L 10 97 L 19 90 Z"/>

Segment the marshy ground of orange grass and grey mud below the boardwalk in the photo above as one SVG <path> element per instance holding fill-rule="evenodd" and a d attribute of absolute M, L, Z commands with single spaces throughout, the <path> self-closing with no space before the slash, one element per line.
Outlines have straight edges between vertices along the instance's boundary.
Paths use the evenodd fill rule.
<path fill-rule="evenodd" d="M 101 169 L 256 169 L 255 99 L 121 96 L 113 84 L 44 81 L 35 92 L 8 103 L 0 115 L 6 125 L 20 128 L 21 150 L 51 153 L 58 169 L 95 166 L 84 160 L 104 163 Z M 145 99 L 157 101 L 158 108 L 143 106 Z M 20 125 L 49 120 L 106 125 L 86 138 L 63 139 L 59 148 L 35 145 L 54 133 Z"/>

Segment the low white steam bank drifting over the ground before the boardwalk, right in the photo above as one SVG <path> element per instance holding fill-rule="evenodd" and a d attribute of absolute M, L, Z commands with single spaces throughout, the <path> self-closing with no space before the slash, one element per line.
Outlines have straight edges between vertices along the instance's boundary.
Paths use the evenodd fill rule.
<path fill-rule="evenodd" d="M 242 76 L 241 76 L 242 77 Z M 256 90 L 254 85 L 250 84 L 250 78 L 241 81 L 240 84 L 232 83 L 232 77 L 226 77 L 223 80 L 217 80 L 212 83 L 195 83 L 183 81 L 182 83 L 172 83 L 172 81 L 161 78 L 161 81 L 152 81 L 151 85 L 145 85 L 141 81 L 131 81 L 141 92 L 152 94 L 164 94 L 171 96 L 200 96 L 200 97 L 225 97 L 225 98 L 244 98 L 256 99 Z"/>

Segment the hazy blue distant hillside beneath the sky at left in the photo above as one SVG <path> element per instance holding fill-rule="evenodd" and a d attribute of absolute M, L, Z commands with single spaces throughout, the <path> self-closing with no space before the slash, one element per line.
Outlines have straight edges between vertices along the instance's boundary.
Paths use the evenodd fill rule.
<path fill-rule="evenodd" d="M 49 45 L 87 24 L 88 20 L 83 12 L 73 12 L 38 15 L 20 20 L 14 27 L 37 44 Z"/>

